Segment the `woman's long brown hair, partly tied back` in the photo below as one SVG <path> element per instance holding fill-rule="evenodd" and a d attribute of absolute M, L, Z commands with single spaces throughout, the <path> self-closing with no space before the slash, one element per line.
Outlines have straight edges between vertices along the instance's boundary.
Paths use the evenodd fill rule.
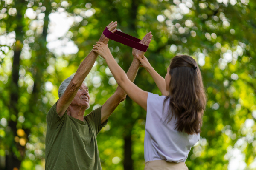
<path fill-rule="evenodd" d="M 172 58 L 169 74 L 169 111 L 166 114 L 167 122 L 175 116 L 178 131 L 184 130 L 187 134 L 200 132 L 202 116 L 207 104 L 205 89 L 198 65 L 190 56 L 180 55 Z"/>

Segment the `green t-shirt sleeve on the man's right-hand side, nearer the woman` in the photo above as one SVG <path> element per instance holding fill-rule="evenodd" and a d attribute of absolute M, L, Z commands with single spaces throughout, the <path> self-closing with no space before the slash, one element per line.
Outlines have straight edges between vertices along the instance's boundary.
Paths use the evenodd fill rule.
<path fill-rule="evenodd" d="M 85 119 L 87 119 L 88 123 L 95 127 L 96 135 L 98 135 L 100 130 L 102 130 L 102 127 L 105 127 L 108 123 L 107 119 L 101 124 L 101 108 L 102 106 L 96 108 L 85 116 Z"/>

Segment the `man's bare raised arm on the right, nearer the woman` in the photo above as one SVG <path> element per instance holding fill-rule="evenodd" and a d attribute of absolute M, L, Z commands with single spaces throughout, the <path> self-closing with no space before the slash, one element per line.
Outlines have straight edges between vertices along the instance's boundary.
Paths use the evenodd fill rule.
<path fill-rule="evenodd" d="M 149 45 L 149 43 L 151 42 L 151 38 L 152 38 L 152 35 L 151 35 L 151 32 L 149 32 L 148 34 L 145 35 L 145 37 L 143 37 L 140 43 L 144 45 Z M 145 52 L 136 50 L 133 48 L 132 54 L 134 56 L 134 59 L 127 72 L 127 77 L 128 79 L 131 80 L 131 82 L 134 82 L 134 79 L 140 67 L 140 61 L 136 58 L 136 54 L 143 57 Z M 104 105 L 102 105 L 101 123 L 105 122 L 108 119 L 108 117 L 111 115 L 111 113 L 113 113 L 113 111 L 119 105 L 119 103 L 125 100 L 126 95 L 127 94 L 125 93 L 125 91 L 121 87 L 117 86 L 115 93 L 104 103 Z"/>

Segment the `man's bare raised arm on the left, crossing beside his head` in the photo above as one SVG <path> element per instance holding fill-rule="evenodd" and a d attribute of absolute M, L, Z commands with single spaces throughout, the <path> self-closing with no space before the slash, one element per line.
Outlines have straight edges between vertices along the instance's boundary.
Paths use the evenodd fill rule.
<path fill-rule="evenodd" d="M 117 22 L 111 22 L 107 28 L 111 32 L 116 31 Z M 108 38 L 102 33 L 99 41 L 107 44 Z M 79 68 L 76 71 L 73 79 L 71 80 L 70 84 L 67 86 L 64 94 L 60 97 L 57 103 L 56 111 L 58 115 L 61 117 L 64 115 L 65 111 L 69 107 L 70 103 L 73 101 L 79 87 L 82 85 L 85 77 L 89 74 L 90 70 L 92 69 L 94 62 L 96 61 L 98 54 L 96 52 L 90 51 L 84 61 L 79 65 Z"/>

